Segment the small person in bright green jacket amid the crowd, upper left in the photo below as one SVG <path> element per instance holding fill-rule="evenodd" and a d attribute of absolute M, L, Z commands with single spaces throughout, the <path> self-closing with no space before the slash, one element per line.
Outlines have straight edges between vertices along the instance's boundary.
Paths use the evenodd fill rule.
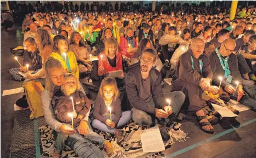
<path fill-rule="evenodd" d="M 92 47 L 99 43 L 99 36 L 97 32 L 93 32 L 93 25 L 87 25 L 88 32 L 85 34 L 85 40 Z"/>

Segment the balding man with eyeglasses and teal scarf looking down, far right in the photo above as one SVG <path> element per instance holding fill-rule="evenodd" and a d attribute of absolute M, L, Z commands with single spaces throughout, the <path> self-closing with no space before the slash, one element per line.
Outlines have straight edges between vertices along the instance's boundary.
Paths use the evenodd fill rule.
<path fill-rule="evenodd" d="M 243 80 L 238 69 L 237 56 L 233 54 L 236 42 L 233 39 L 226 39 L 221 44 L 220 48 L 215 49 L 215 52 L 209 55 L 210 66 L 214 74 L 213 85 L 219 86 L 219 77 L 222 77 L 221 87 L 224 89 L 222 92 L 222 100 L 229 101 L 235 93 L 237 101 L 245 104 L 246 106 L 256 110 L 256 100 L 249 95 L 244 95 Z M 238 86 L 237 86 L 238 85 Z M 237 89 L 236 89 L 237 86 Z M 254 85 L 252 85 L 254 86 Z M 251 86 L 250 86 L 251 87 Z M 246 89 L 246 86 L 244 86 Z M 228 95 L 224 95 L 224 94 Z M 250 94 L 255 97 L 254 94 Z"/>

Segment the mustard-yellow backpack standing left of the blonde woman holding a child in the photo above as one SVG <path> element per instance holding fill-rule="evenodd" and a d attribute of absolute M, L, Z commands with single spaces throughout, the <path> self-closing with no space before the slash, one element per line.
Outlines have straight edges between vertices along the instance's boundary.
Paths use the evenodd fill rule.
<path fill-rule="evenodd" d="M 43 108 L 41 101 L 41 93 L 43 91 L 43 86 L 40 82 L 29 81 L 26 83 L 26 98 L 29 104 L 31 114 L 30 119 L 38 118 L 43 116 Z"/>

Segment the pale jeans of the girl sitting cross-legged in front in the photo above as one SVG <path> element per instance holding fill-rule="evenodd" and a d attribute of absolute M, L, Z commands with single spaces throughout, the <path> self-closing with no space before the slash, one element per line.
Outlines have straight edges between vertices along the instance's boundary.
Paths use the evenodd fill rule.
<path fill-rule="evenodd" d="M 112 119 L 114 119 L 114 117 L 115 116 L 113 116 Z M 118 124 L 116 125 L 116 127 L 118 128 L 120 126 L 125 125 L 129 120 L 131 120 L 131 118 L 132 118 L 131 111 L 123 112 L 120 120 L 118 121 Z M 109 126 L 107 126 L 106 124 L 103 124 L 101 121 L 99 121 L 97 119 L 94 119 L 92 121 L 92 126 L 94 128 L 97 128 L 98 130 L 101 130 L 103 132 L 109 132 L 111 134 L 114 134 L 114 131 L 116 130 L 116 128 L 110 128 Z"/>

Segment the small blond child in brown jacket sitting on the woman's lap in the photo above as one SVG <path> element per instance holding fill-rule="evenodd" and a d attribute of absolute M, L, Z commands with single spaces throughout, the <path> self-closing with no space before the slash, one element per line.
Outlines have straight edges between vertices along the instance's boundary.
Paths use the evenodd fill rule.
<path fill-rule="evenodd" d="M 78 91 L 78 89 L 80 89 L 80 85 L 75 75 L 67 73 L 64 75 L 61 91 L 58 90 L 57 92 L 54 92 L 54 95 L 58 93 L 58 96 L 60 96 L 55 102 L 54 113 L 57 115 L 59 121 L 65 124 L 71 124 L 71 117 L 69 114 L 72 114 L 74 118 L 74 127 L 76 129 L 77 126 L 79 126 L 80 121 L 85 118 L 86 114 L 91 108 L 90 104 L 85 104 L 86 95 L 81 91 Z M 75 111 L 73 110 L 71 97 L 73 97 Z M 90 123 L 88 123 L 88 125 L 90 127 Z M 62 151 L 62 148 L 64 147 L 63 141 L 65 141 L 66 138 L 67 136 L 64 134 L 58 133 L 54 145 L 55 157 L 60 157 L 60 151 Z M 104 150 L 107 152 L 108 156 L 111 156 L 114 153 L 112 144 L 99 136 L 99 134 L 93 132 L 91 127 L 90 132 L 86 134 L 85 138 L 92 142 L 97 142 L 100 148 L 104 147 Z"/>

